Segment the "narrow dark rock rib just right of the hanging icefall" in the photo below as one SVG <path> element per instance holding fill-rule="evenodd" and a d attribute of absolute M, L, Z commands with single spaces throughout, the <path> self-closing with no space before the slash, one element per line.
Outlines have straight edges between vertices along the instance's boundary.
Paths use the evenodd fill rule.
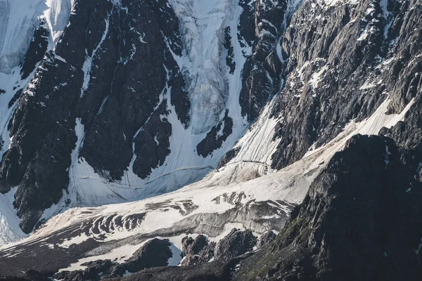
<path fill-rule="evenodd" d="M 239 102 L 242 115 L 255 120 L 269 98 L 279 91 L 282 63 L 279 37 L 288 20 L 287 1 L 239 1 L 243 14 L 238 39 L 248 44 L 252 53 L 243 68 L 243 86 Z M 252 32 L 253 31 L 253 32 Z"/>

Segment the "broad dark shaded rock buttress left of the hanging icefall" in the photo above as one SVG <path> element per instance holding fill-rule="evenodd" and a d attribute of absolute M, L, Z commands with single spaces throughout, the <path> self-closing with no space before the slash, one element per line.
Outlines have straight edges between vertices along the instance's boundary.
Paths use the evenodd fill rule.
<path fill-rule="evenodd" d="M 123 9 L 110 1 L 75 1 L 70 24 L 45 57 L 46 30 L 36 30 L 23 76 L 32 71 L 27 65 L 44 58 L 11 119 L 13 142 L 0 166 L 2 185 L 18 185 L 15 207 L 26 233 L 69 191 L 76 118 L 84 125 L 79 157 L 109 181 L 122 178 L 133 153 L 141 178 L 170 153 L 172 127 L 160 116 L 170 99 L 187 124 L 189 104 L 169 49 L 180 55 L 179 25 L 166 3 L 122 1 Z"/>

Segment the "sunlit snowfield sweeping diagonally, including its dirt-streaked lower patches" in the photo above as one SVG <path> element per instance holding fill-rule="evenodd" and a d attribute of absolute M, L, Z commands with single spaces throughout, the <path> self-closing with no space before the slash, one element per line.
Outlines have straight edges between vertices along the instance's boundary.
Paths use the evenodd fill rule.
<path fill-rule="evenodd" d="M 62 214 L 53 216 L 44 226 L 19 244 L 40 242 L 48 239 L 53 233 L 64 233 L 67 229 L 72 229 L 72 233 L 76 233 L 75 236 L 67 236 L 60 244 L 44 244 L 44 246 L 68 248 L 86 242 L 89 238 L 101 242 L 116 242 L 155 233 L 156 237 L 169 238 L 174 247 L 181 249 L 181 239 L 188 234 L 195 236 L 205 233 L 210 240 L 218 241 L 234 227 L 250 229 L 255 235 L 260 235 L 269 229 L 279 230 L 280 228 L 275 228 L 276 223 L 271 223 L 271 219 L 286 218 L 292 207 L 302 202 L 309 185 L 328 164 L 335 152 L 342 150 L 345 143 L 357 133 L 371 135 L 378 133 L 383 126 L 388 128 L 394 126 L 411 109 L 413 102 L 414 100 L 411 100 L 399 115 L 385 115 L 390 103 L 388 98 L 385 99 L 371 117 L 362 122 L 350 122 L 333 141 L 321 148 L 309 150 L 300 161 L 280 171 L 271 171 L 265 176 L 245 179 L 245 170 L 260 169 L 262 164 L 241 162 L 235 158 L 219 171 L 213 171 L 207 175 L 202 181 L 165 195 L 102 207 L 68 209 Z M 244 143 L 250 133 L 259 134 L 260 129 L 265 131 L 268 126 L 271 127 L 271 122 L 274 121 L 266 118 L 265 114 L 262 118 L 266 120 L 262 126 L 252 127 L 239 143 Z M 259 122 L 260 120 L 258 124 Z M 257 131 L 254 132 L 254 128 Z M 257 142 L 249 143 L 248 150 L 260 150 L 262 139 L 254 138 L 254 140 Z M 268 218 L 267 223 L 254 223 L 257 219 L 254 214 L 246 218 L 239 216 L 241 213 L 239 206 L 250 209 L 253 204 L 262 202 L 267 204 L 268 208 L 260 213 L 260 218 Z M 237 211 L 230 213 L 231 210 Z M 221 220 L 219 223 L 223 227 L 217 230 L 211 229 L 207 225 L 207 214 L 218 216 Z M 139 215 L 143 216 L 141 221 L 136 220 L 136 216 Z M 131 226 L 124 226 L 126 222 L 131 223 Z M 77 234 L 75 228 L 79 227 L 89 228 L 89 231 Z M 190 227 L 193 229 L 191 233 L 183 232 Z M 124 261 L 129 259 L 138 246 L 141 247 L 145 241 L 131 244 L 130 249 L 122 246 L 113 250 L 93 250 L 91 251 L 93 254 L 88 258 L 81 259 L 62 270 L 79 270 L 84 268 L 81 266 L 82 263 L 97 259 Z M 15 244 L 8 244 L 1 249 L 6 253 L 10 251 L 12 254 L 14 246 Z"/>

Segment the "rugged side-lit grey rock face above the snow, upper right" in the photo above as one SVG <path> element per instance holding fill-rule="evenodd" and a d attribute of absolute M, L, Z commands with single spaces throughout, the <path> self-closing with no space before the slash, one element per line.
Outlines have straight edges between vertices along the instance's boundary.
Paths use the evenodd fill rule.
<path fill-rule="evenodd" d="M 363 120 L 390 98 L 400 112 L 418 93 L 417 1 L 304 1 L 281 39 L 288 58 L 277 96 L 280 168 Z M 305 27 L 306 28 L 303 28 Z M 305 51 L 304 51 L 305 50 Z"/>

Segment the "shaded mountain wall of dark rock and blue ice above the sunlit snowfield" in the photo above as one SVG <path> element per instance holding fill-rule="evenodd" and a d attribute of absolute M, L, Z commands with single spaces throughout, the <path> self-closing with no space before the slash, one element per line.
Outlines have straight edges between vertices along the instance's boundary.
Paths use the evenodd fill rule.
<path fill-rule="evenodd" d="M 219 0 L 197 9 L 197 1 L 75 0 L 52 6 L 63 10 L 51 12 L 63 13 L 57 26 L 51 16 L 39 22 L 20 64 L 29 84 L 13 93 L 13 115 L 2 117 L 3 142 L 11 143 L 0 190 L 18 187 L 13 204 L 25 233 L 68 207 L 199 179 L 279 89 L 276 37 L 286 4 Z"/>

